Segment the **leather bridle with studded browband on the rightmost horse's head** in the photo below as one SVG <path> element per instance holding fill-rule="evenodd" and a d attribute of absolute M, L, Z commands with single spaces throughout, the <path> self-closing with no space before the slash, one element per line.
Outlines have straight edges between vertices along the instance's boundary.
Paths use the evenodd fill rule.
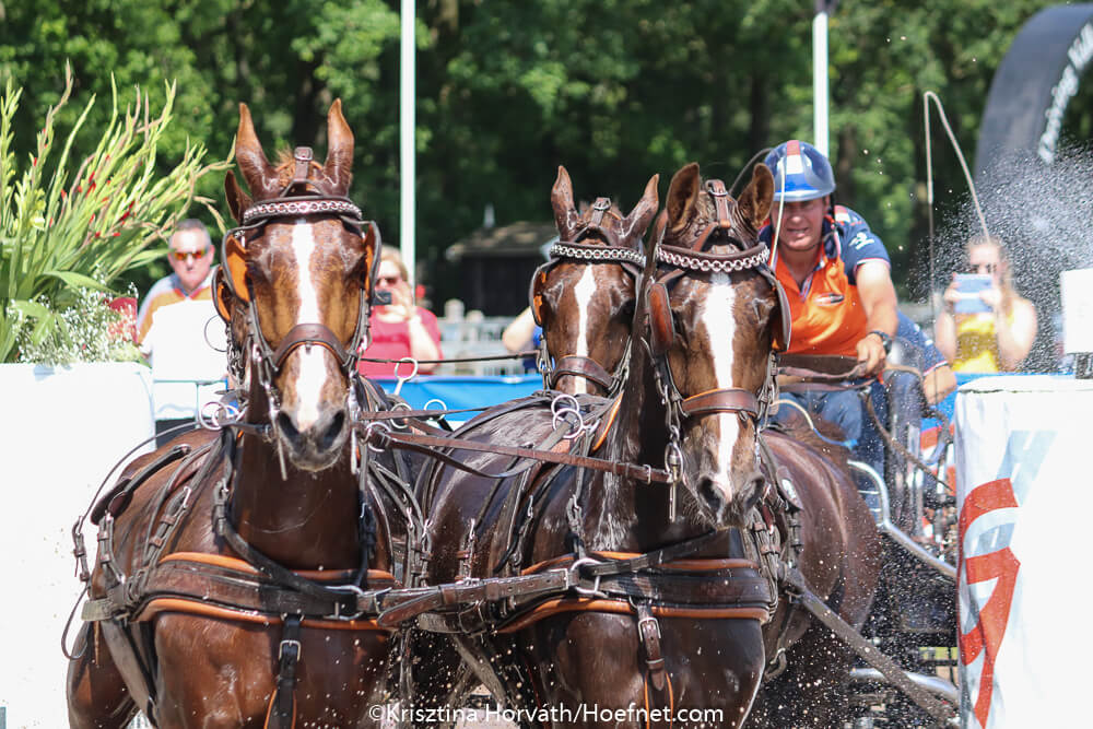
<path fill-rule="evenodd" d="M 789 344 L 790 314 L 785 291 L 767 266 L 768 250 L 759 240 L 757 233 L 744 221 L 725 191 L 721 180 L 706 183 L 706 192 L 714 199 L 717 220 L 702 228 L 690 248 L 663 245 L 668 225 L 667 211 L 662 212 L 655 227 L 656 267 L 645 290 L 648 311 L 648 337 L 644 343 L 654 363 L 657 388 L 667 408 L 669 443 L 665 451 L 666 469 L 682 479 L 683 458 L 680 448 L 682 424 L 686 420 L 717 413 L 736 413 L 741 421 L 750 422 L 756 432 L 766 422 L 769 404 L 777 398 L 775 379 L 776 353 Z M 737 248 L 734 252 L 715 254 L 702 250 L 714 236 Z M 669 303 L 669 292 L 683 277 L 701 278 L 712 273 L 754 271 L 777 292 L 780 319 L 775 325 L 775 345 L 767 358 L 767 372 L 760 391 L 726 387 L 684 397 L 672 375 L 668 351 L 675 336 L 675 325 Z M 726 313 L 728 315 L 729 313 Z M 757 447 L 757 446 L 756 446 Z"/>

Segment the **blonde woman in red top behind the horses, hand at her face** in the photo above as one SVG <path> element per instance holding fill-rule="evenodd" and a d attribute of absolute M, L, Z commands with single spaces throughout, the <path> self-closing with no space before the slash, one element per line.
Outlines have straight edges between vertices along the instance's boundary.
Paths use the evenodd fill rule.
<path fill-rule="evenodd" d="M 376 360 L 440 360 L 440 328 L 436 316 L 413 302 L 407 267 L 399 251 L 384 246 L 376 275 L 377 291 L 388 291 L 391 303 L 375 306 L 368 319 L 371 341 L 362 356 Z M 435 364 L 420 364 L 419 373 L 431 373 Z M 359 369 L 365 377 L 393 377 L 410 375 L 413 368 L 386 362 L 361 362 Z"/>

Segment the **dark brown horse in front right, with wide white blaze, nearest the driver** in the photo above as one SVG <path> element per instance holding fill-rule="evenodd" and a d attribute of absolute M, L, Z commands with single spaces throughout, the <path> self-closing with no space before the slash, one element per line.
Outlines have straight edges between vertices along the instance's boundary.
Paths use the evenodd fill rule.
<path fill-rule="evenodd" d="M 526 715 L 529 726 L 647 726 L 650 715 L 639 710 L 624 710 L 621 718 L 583 713 L 631 706 L 662 709 L 651 717 L 656 726 L 672 726 L 673 716 L 674 726 L 738 727 L 751 706 L 764 668 L 761 622 L 771 593 L 745 556 L 741 532 L 730 527 L 743 526 L 763 483 L 757 413 L 750 403 L 766 387 L 766 352 L 779 321 L 772 316 L 774 289 L 755 259 L 756 231 L 773 195 L 772 177 L 763 173 L 739 201 L 729 201 L 731 221 L 724 228 L 751 249 L 742 254 L 721 245 L 702 254 L 730 272 L 661 263 L 659 249 L 649 247 L 631 325 L 631 374 L 590 438 L 592 452 L 614 463 L 659 468 L 668 460 L 674 485 L 579 468 L 491 479 L 437 467 L 419 492 L 430 514 L 430 584 L 534 577 L 551 565 L 575 563 L 598 576 L 585 592 L 517 601 L 515 609 L 478 603 L 424 621 L 427 630 L 448 633 L 502 701 L 566 712 Z M 669 211 L 682 212 L 682 202 L 697 197 L 687 181 L 696 185 L 697 176 L 673 180 Z M 678 232 L 690 224 L 670 220 Z M 670 302 L 650 293 L 661 266 L 673 280 Z M 665 320 L 650 316 L 662 313 L 658 303 L 669 306 L 673 319 L 667 336 L 658 329 Z M 734 325 L 736 333 L 718 336 L 724 331 L 715 320 Z M 725 367 L 733 356 L 737 364 Z M 679 410 L 681 402 L 686 404 Z M 517 402 L 471 421 L 457 435 L 548 447 L 555 423 L 549 409 Z M 465 466 L 501 472 L 512 470 L 513 461 L 475 455 Z M 419 651 L 419 690 L 428 692 L 431 675 L 453 682 L 446 655 L 435 647 Z M 444 686 L 433 689 L 443 694 Z M 694 709 L 712 713 L 685 714 Z"/>

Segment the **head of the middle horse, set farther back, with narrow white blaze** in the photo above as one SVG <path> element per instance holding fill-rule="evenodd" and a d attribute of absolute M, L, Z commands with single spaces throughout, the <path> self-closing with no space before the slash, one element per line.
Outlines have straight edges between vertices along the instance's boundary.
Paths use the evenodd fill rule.
<path fill-rule="evenodd" d="M 551 205 L 559 242 L 532 278 L 530 293 L 536 322 L 543 328 L 550 387 L 572 395 L 619 388 L 645 261 L 642 238 L 660 204 L 659 179 L 653 176 L 624 216 L 608 198 L 578 211 L 569 174 L 557 168 Z"/>

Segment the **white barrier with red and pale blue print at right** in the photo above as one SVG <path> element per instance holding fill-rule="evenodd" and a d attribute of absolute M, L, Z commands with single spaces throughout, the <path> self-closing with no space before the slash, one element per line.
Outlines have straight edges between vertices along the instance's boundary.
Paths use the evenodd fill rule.
<path fill-rule="evenodd" d="M 990 377 L 956 397 L 962 726 L 1088 726 L 1093 380 Z"/>

